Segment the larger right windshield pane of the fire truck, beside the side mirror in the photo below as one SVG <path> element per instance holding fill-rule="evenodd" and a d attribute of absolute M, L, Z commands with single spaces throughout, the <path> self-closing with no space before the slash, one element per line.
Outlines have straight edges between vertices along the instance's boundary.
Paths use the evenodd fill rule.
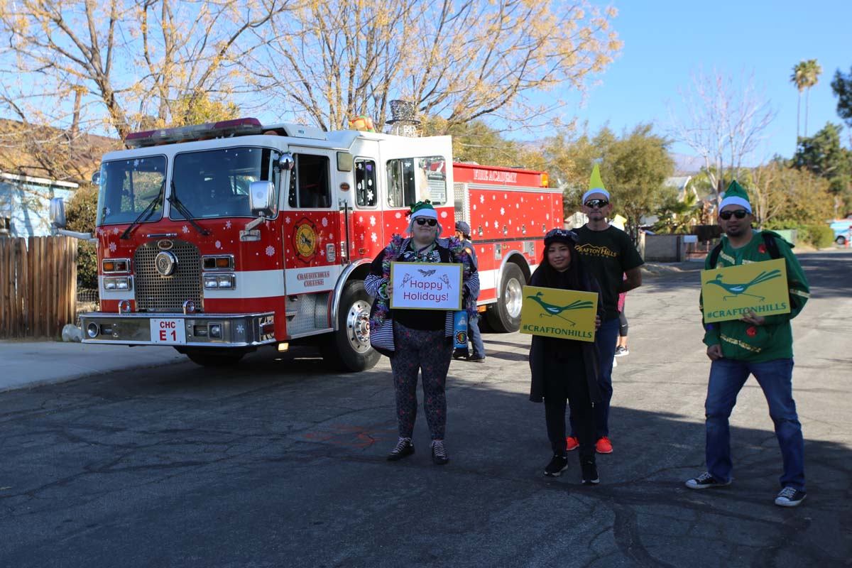
<path fill-rule="evenodd" d="M 177 154 L 172 168 L 170 219 L 250 217 L 252 181 L 273 181 L 276 152 L 268 148 L 222 148 Z M 278 199 L 273 199 L 278 203 Z M 174 206 L 175 203 L 181 206 Z"/>

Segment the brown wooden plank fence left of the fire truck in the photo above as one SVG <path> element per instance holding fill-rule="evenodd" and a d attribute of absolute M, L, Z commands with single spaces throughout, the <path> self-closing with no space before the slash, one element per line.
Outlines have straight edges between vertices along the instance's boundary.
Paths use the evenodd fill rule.
<path fill-rule="evenodd" d="M 77 239 L 0 238 L 0 339 L 54 337 L 77 318 Z"/>

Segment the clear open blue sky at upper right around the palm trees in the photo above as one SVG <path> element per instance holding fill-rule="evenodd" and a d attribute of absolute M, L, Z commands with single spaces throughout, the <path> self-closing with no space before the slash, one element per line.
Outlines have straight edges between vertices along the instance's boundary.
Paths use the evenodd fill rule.
<path fill-rule="evenodd" d="M 665 134 L 671 103 L 682 106 L 680 90 L 694 73 L 710 74 L 715 67 L 734 77 L 753 72 L 757 91 L 771 101 L 778 115 L 769 139 L 754 152 L 749 165 L 778 153 L 787 158 L 796 147 L 797 89 L 790 83 L 792 67 L 816 59 L 820 82 L 810 91 L 808 134 L 826 121 L 841 123 L 831 82 L 838 68 L 852 66 L 852 1 L 715 0 L 684 2 L 653 0 L 617 2 L 613 29 L 624 41 L 614 63 L 591 86 L 582 106 L 568 114 L 588 120 L 590 132 L 603 124 L 620 133 L 637 123 L 653 122 Z M 579 97 L 571 102 L 579 105 Z M 802 123 L 804 122 L 804 94 Z M 843 130 L 849 144 L 849 129 Z M 672 151 L 694 154 L 674 144 Z"/>

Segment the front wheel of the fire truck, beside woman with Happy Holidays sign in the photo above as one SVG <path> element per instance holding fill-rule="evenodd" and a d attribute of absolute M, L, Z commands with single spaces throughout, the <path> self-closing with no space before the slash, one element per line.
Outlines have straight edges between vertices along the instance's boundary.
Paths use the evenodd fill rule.
<path fill-rule="evenodd" d="M 358 372 L 371 369 L 381 355 L 370 345 L 370 308 L 372 297 L 360 280 L 343 287 L 337 331 L 320 345 L 320 353 L 337 370 Z"/>

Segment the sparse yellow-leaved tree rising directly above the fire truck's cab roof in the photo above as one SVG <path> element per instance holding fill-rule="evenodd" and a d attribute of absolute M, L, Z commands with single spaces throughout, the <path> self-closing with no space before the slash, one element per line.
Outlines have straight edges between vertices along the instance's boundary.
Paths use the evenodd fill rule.
<path fill-rule="evenodd" d="M 615 14 L 584 1 L 318 0 L 273 21 L 277 65 L 261 52 L 243 63 L 268 104 L 324 129 L 360 114 L 381 129 L 390 99 L 447 129 L 486 115 L 528 124 L 613 60 Z"/>

